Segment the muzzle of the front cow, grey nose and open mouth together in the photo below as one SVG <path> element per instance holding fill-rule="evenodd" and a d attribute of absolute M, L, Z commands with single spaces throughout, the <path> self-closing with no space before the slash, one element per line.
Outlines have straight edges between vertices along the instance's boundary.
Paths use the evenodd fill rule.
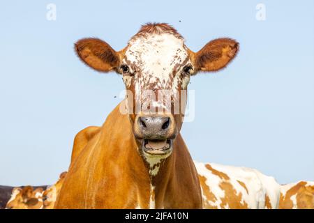
<path fill-rule="evenodd" d="M 139 114 L 133 124 L 135 138 L 142 143 L 142 150 L 151 155 L 172 151 L 172 141 L 177 128 L 172 114 Z"/>

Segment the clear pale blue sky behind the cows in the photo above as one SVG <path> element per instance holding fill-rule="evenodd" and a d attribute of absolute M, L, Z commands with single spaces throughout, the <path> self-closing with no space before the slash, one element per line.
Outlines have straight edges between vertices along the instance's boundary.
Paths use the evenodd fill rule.
<path fill-rule="evenodd" d="M 172 24 L 193 51 L 218 37 L 240 43 L 227 69 L 190 80 L 195 121 L 181 133 L 195 160 L 314 180 L 313 1 L 3 1 L 0 10 L 0 185 L 53 183 L 75 134 L 119 103 L 121 76 L 84 66 L 73 43 L 93 36 L 118 50 L 146 22 Z"/>

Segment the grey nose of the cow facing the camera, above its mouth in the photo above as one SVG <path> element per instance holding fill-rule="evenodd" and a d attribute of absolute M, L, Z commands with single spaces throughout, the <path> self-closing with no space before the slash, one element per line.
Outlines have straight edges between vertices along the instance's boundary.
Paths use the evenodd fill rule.
<path fill-rule="evenodd" d="M 135 132 L 139 138 L 170 139 L 175 134 L 173 116 L 138 116 L 135 125 Z"/>

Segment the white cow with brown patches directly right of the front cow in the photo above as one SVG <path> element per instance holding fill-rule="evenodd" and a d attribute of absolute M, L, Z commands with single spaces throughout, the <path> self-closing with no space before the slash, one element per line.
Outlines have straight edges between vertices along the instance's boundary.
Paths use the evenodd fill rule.
<path fill-rule="evenodd" d="M 256 169 L 195 162 L 203 208 L 278 208 L 280 185 Z"/>

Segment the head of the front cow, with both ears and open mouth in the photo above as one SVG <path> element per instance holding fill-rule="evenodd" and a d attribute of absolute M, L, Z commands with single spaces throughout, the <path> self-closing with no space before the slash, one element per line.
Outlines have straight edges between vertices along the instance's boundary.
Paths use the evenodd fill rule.
<path fill-rule="evenodd" d="M 167 157 L 181 129 L 190 76 L 225 68 L 239 44 L 220 38 L 192 52 L 172 26 L 146 24 L 119 52 L 96 38 L 79 40 L 75 49 L 91 68 L 122 75 L 126 107 L 142 152 Z"/>

